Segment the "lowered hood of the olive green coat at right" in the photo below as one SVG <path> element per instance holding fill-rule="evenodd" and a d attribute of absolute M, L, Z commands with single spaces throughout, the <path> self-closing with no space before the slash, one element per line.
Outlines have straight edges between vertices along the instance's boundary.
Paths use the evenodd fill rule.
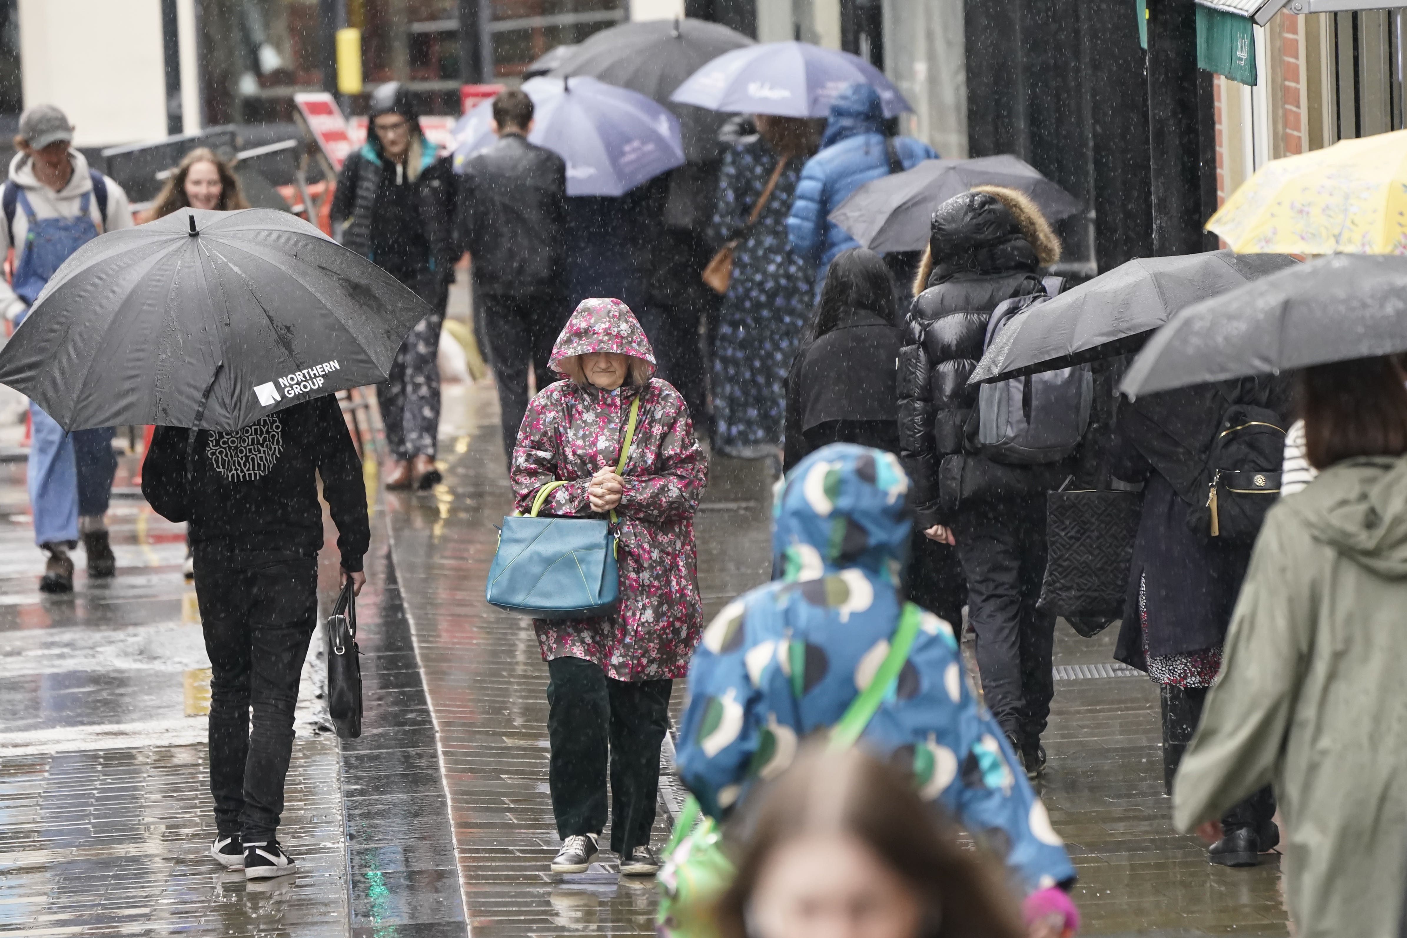
<path fill-rule="evenodd" d="M 1407 456 L 1337 463 L 1285 499 L 1314 540 L 1379 577 L 1407 577 Z"/>

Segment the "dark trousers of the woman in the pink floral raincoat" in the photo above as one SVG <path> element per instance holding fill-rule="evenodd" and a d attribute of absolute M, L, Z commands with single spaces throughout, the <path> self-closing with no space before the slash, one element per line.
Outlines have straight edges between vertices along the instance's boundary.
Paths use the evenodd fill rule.
<path fill-rule="evenodd" d="M 616 681 L 585 658 L 547 662 L 547 740 L 557 834 L 599 834 L 625 856 L 650 842 L 660 797 L 660 747 L 670 727 L 673 681 Z"/>

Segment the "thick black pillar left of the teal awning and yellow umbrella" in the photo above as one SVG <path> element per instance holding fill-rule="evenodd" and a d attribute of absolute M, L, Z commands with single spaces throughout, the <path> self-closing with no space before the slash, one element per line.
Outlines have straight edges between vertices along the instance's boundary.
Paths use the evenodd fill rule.
<path fill-rule="evenodd" d="M 1196 3 L 1148 0 L 1154 255 L 1203 249 L 1199 104 Z"/>

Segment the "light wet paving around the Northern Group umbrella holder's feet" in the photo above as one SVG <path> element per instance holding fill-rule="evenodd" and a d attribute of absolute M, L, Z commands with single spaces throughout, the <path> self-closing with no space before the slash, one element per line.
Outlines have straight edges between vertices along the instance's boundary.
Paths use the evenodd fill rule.
<path fill-rule="evenodd" d="M 300 872 L 246 886 L 208 855 L 208 667 L 184 526 L 122 460 L 108 513 L 118 575 L 38 592 L 24 463 L 0 464 L 0 932 L 348 934 L 338 741 L 311 693 L 280 828 Z"/>

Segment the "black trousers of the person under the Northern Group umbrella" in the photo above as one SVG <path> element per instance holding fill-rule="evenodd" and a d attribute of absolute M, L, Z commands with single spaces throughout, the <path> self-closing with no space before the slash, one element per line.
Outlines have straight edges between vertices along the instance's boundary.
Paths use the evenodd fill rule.
<path fill-rule="evenodd" d="M 267 841 L 283 813 L 298 678 L 317 623 L 317 560 L 242 560 L 197 546 L 194 564 L 211 665 L 215 825 L 222 837 Z"/>

